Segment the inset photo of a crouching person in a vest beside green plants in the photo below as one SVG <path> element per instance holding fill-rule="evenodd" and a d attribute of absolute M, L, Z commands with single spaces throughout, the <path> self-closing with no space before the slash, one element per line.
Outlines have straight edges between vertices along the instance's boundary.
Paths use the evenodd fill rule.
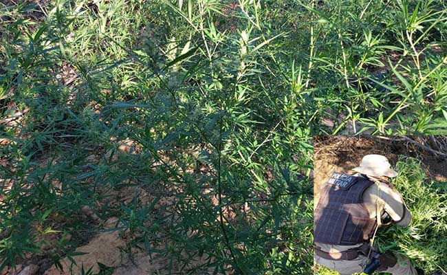
<path fill-rule="evenodd" d="M 314 274 L 447 274 L 447 135 L 314 137 Z"/>

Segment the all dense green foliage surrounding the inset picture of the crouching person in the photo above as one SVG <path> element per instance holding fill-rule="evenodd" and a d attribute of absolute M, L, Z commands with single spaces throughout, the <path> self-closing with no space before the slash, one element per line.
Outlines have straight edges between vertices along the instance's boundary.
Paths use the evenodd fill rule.
<path fill-rule="evenodd" d="M 184 273 L 309 274 L 312 133 L 446 133 L 444 1 L 15 2 L 0 3 L 0 266 L 57 263 L 100 228 L 88 206 Z"/>

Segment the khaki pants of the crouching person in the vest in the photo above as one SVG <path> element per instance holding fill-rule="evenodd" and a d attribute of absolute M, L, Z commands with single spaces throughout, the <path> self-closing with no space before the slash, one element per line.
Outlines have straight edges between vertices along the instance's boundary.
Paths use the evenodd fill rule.
<path fill-rule="evenodd" d="M 396 255 L 397 263 L 393 267 L 389 267 L 384 272 L 391 273 L 393 275 L 417 275 L 417 271 L 411 265 L 408 258 L 400 255 Z M 323 265 L 331 270 L 340 272 L 340 275 L 351 275 L 354 273 L 362 273 L 364 263 L 367 262 L 366 256 L 358 256 L 352 261 L 345 260 L 328 260 L 323 259 L 320 256 L 314 255 L 315 263 Z"/>

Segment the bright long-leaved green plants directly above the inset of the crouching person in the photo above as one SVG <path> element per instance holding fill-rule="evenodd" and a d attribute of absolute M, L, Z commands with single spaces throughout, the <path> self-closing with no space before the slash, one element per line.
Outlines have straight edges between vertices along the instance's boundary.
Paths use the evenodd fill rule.
<path fill-rule="evenodd" d="M 318 116 L 343 118 L 329 133 L 446 133 L 445 1 L 318 1 L 307 9 Z"/>

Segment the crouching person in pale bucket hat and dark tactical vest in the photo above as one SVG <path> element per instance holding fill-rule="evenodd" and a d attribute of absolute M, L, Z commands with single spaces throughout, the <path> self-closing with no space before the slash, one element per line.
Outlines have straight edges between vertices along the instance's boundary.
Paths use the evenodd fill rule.
<path fill-rule="evenodd" d="M 389 183 L 397 173 L 382 155 L 364 156 L 353 170 L 356 175 L 332 174 L 320 194 L 314 210 L 315 263 L 342 275 L 372 274 L 374 270 L 417 275 L 406 257 L 378 254 L 371 247 L 381 226 L 410 224 L 411 213 Z M 385 219 L 391 221 L 385 224 Z"/>

